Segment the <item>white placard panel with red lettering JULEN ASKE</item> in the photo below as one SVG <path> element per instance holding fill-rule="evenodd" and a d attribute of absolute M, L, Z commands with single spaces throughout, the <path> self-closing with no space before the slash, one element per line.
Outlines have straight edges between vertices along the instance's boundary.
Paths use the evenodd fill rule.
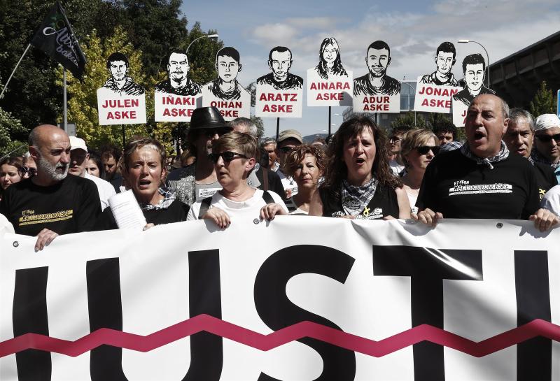
<path fill-rule="evenodd" d="M 115 94 L 109 89 L 97 89 L 99 125 L 146 123 L 146 95 Z"/>

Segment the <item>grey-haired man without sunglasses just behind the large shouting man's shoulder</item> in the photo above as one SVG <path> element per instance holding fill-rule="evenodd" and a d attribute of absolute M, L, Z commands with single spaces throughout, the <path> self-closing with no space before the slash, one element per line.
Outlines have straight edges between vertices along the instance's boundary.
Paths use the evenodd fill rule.
<path fill-rule="evenodd" d="M 535 136 L 535 121 L 533 115 L 521 108 L 512 108 L 510 118 L 507 122 L 507 131 L 503 136 L 503 141 L 512 154 L 519 154 L 525 157 L 531 164 L 537 178 L 539 199 L 545 196 L 548 189 L 558 184 L 552 168 L 544 163 L 535 162 L 531 159 L 533 149 L 533 138 Z"/>

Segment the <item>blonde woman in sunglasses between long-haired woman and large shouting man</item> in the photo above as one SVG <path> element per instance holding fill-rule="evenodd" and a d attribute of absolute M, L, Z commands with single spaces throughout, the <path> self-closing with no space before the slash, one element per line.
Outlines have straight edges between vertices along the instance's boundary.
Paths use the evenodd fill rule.
<path fill-rule="evenodd" d="M 405 163 L 402 184 L 407 192 L 412 213 L 416 213 L 418 212 L 418 208 L 415 206 L 416 199 L 424 173 L 426 173 L 426 167 L 437 152 L 440 152 L 440 146 L 437 144 L 437 136 L 428 129 L 407 131 L 402 136 L 400 146 L 402 161 Z"/>

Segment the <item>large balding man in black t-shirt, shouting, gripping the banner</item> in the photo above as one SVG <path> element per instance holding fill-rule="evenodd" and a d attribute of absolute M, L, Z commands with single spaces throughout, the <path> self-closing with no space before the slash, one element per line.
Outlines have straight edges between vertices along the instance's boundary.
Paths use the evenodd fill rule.
<path fill-rule="evenodd" d="M 435 225 L 441 218 L 533 220 L 541 231 L 559 218 L 539 209 L 531 163 L 510 154 L 502 141 L 507 130 L 507 103 L 493 94 L 477 96 L 467 110 L 467 143 L 444 152 L 426 168 L 416 217 Z"/>

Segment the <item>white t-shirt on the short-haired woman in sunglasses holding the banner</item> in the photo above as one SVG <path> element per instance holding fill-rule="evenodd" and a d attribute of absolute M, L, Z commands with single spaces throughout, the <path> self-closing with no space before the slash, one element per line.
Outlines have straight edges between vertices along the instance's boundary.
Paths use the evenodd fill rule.
<path fill-rule="evenodd" d="M 282 208 L 288 213 L 288 208 L 282 201 L 281 197 L 271 191 L 267 191 L 275 203 L 278 203 L 282 206 Z M 267 204 L 265 199 L 262 198 L 262 194 L 264 192 L 260 189 L 255 189 L 255 194 L 250 199 L 245 201 L 232 201 L 230 199 L 226 199 L 220 192 L 214 194 L 212 196 L 212 201 L 210 203 L 210 208 L 218 207 L 223 210 L 225 213 L 228 213 L 230 218 L 235 218 L 236 220 L 246 219 L 253 221 L 255 218 L 260 217 L 260 209 Z M 191 206 L 188 215 L 187 221 L 198 220 L 198 213 L 200 211 L 200 206 L 202 205 L 202 201 L 197 201 L 193 203 Z"/>

